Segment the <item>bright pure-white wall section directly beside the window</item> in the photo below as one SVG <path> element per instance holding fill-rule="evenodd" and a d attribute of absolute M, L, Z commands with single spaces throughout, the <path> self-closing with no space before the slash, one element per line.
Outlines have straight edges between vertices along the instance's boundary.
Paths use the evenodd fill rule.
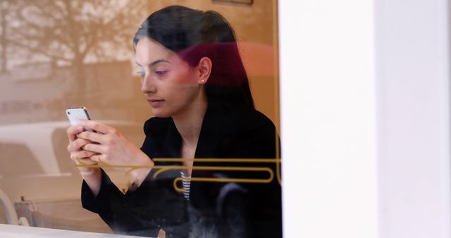
<path fill-rule="evenodd" d="M 279 7 L 285 237 L 376 237 L 372 1 Z"/>

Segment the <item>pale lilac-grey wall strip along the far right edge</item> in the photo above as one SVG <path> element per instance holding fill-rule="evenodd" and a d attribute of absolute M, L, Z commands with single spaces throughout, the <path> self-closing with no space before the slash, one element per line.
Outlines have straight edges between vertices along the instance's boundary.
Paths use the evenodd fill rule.
<path fill-rule="evenodd" d="M 381 237 L 448 238 L 448 3 L 375 4 Z"/>

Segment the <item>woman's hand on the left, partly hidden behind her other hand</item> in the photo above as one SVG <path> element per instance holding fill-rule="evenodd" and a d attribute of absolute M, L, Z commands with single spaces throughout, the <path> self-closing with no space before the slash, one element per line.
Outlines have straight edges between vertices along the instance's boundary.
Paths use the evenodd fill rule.
<path fill-rule="evenodd" d="M 77 165 L 78 170 L 83 179 L 87 182 L 94 196 L 97 196 L 101 185 L 101 170 L 100 168 L 92 168 L 80 165 L 97 165 L 96 161 L 91 160 L 91 156 L 95 153 L 92 151 L 85 151 L 83 146 L 92 143 L 87 139 L 77 137 L 77 134 L 85 131 L 80 125 L 73 125 L 66 130 L 69 138 L 68 152 L 70 153 L 70 160 Z"/>

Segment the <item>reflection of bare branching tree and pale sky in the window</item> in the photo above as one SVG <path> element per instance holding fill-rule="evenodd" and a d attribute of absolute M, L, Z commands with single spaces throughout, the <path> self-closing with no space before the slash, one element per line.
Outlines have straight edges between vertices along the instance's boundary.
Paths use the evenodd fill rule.
<path fill-rule="evenodd" d="M 140 0 L 39 0 L 9 1 L 9 24 L 2 48 L 27 52 L 23 63 L 53 62 L 71 65 L 83 99 L 86 82 L 83 64 L 127 58 L 131 38 L 144 17 Z M 2 14 L 3 15 L 3 14 Z M 5 49 L 2 52 L 6 52 Z M 4 56 L 6 54 L 2 54 Z M 6 67 L 6 62 L 2 65 Z"/>

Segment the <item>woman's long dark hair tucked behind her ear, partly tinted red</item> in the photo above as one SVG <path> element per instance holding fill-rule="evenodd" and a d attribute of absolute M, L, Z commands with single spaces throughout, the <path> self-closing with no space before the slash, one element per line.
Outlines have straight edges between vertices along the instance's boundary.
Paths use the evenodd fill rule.
<path fill-rule="evenodd" d="M 168 6 L 144 20 L 133 38 L 133 47 L 146 37 L 177 53 L 191 67 L 197 66 L 202 57 L 211 59 L 213 66 L 206 83 L 209 103 L 254 108 L 235 32 L 221 14 Z"/>

